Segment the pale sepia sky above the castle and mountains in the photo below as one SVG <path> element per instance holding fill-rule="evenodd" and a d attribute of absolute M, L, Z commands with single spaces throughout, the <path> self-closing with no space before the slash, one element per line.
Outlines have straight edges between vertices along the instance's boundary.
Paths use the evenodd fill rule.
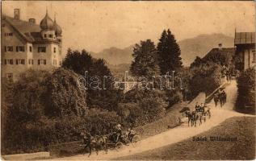
<path fill-rule="evenodd" d="M 164 29 L 179 41 L 200 34 L 255 31 L 254 1 L 250 2 L 103 2 L 103 1 L 3 1 L 2 13 L 36 23 L 49 16 L 62 28 L 63 48 L 100 52 L 108 47 L 128 47 L 141 40 L 155 43 Z"/>

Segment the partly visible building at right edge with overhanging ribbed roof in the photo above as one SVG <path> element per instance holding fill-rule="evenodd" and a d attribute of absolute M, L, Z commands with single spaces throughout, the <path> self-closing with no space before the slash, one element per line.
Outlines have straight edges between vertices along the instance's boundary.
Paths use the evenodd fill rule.
<path fill-rule="evenodd" d="M 234 46 L 236 55 L 241 57 L 241 69 L 256 65 L 255 32 L 235 32 Z"/>

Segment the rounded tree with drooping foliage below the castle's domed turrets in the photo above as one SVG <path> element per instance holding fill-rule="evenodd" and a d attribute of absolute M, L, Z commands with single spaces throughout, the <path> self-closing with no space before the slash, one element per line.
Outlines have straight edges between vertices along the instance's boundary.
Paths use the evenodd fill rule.
<path fill-rule="evenodd" d="M 57 68 L 45 79 L 45 114 L 49 117 L 82 114 L 86 107 L 86 90 L 78 88 L 78 74 L 65 68 Z"/>

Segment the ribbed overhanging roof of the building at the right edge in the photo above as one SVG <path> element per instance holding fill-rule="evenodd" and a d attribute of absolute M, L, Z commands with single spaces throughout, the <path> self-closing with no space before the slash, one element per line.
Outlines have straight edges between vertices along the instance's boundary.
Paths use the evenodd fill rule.
<path fill-rule="evenodd" d="M 255 32 L 236 32 L 235 45 L 237 44 L 254 44 Z"/>

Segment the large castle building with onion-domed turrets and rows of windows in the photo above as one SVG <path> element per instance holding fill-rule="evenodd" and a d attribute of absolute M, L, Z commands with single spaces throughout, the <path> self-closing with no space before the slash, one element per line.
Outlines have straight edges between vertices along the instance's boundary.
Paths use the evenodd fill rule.
<path fill-rule="evenodd" d="M 1 76 L 16 81 L 28 69 L 52 70 L 61 66 L 61 27 L 48 11 L 40 25 L 36 19 L 23 21 L 20 10 L 14 18 L 2 15 Z"/>

